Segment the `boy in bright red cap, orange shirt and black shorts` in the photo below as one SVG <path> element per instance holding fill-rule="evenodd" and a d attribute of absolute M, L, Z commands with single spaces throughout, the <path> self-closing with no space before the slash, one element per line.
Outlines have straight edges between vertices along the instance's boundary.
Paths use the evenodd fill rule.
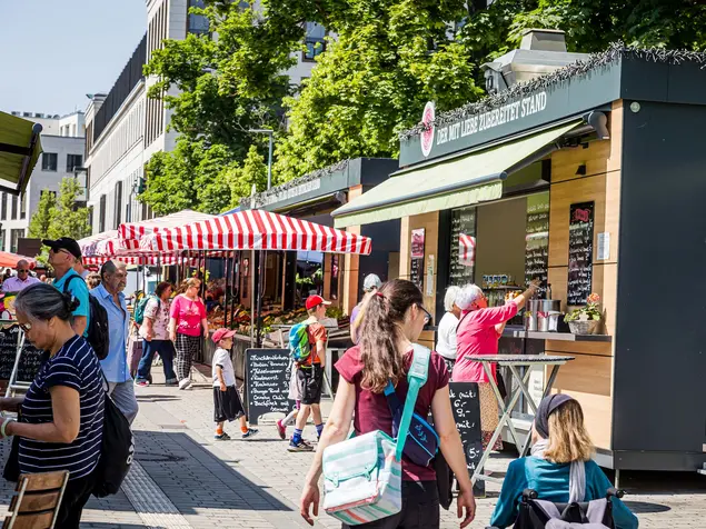
<path fill-rule="evenodd" d="M 307 326 L 311 355 L 309 355 L 306 361 L 297 366 L 297 383 L 299 395 L 301 396 L 301 408 L 297 413 L 295 433 L 291 436 L 289 447 L 287 448 L 290 452 L 308 452 L 314 450 L 311 445 L 301 439 L 301 433 L 309 419 L 309 413 L 314 415 L 314 423 L 316 425 L 318 437 L 321 437 L 321 431 L 324 430 L 319 402 L 321 402 L 321 385 L 324 383 L 324 366 L 326 362 L 326 340 L 328 337 L 326 335 L 326 328 L 319 323 L 319 321 L 326 318 L 327 305 L 331 305 L 331 302 L 326 301 L 320 296 L 309 296 L 307 298 L 306 307 L 309 318 L 304 321 L 304 323 Z"/>

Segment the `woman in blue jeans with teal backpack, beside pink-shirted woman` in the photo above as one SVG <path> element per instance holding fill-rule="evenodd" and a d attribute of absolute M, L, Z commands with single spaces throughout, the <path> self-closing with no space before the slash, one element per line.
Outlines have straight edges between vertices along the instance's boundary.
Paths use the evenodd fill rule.
<path fill-rule="evenodd" d="M 167 386 L 177 386 L 177 375 L 173 369 L 175 346 L 169 339 L 169 299 L 173 287 L 169 281 L 160 282 L 155 289 L 155 296 L 140 300 L 136 311 L 136 322 L 140 323 L 139 335 L 142 338 L 142 358 L 137 368 L 137 386 L 150 383 L 150 370 L 155 353 L 159 353 L 165 366 Z M 139 315 L 138 312 L 140 312 Z M 141 317 L 141 322 L 137 321 Z"/>

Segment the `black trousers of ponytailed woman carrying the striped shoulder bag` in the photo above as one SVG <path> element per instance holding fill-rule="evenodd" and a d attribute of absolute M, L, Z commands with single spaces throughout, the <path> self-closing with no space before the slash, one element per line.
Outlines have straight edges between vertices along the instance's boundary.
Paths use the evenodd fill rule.
<path fill-rule="evenodd" d="M 436 481 L 402 481 L 402 510 L 356 529 L 439 529 L 439 491 Z M 351 526 L 342 525 L 342 529 Z"/>

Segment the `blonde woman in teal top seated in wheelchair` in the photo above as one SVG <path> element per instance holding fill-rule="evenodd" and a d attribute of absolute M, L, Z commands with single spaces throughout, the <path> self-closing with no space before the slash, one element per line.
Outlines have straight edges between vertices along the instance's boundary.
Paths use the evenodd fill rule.
<path fill-rule="evenodd" d="M 504 529 L 516 523 L 523 491 L 531 489 L 539 499 L 555 503 L 608 497 L 614 527 L 636 529 L 637 517 L 616 495 L 608 493 L 613 485 L 590 459 L 593 452 L 580 405 L 566 395 L 545 397 L 535 416 L 531 456 L 510 462 L 490 526 Z"/>

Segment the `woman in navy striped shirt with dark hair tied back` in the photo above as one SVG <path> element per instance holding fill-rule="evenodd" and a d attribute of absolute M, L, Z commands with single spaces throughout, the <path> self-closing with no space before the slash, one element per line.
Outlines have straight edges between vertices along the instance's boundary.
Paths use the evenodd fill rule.
<path fill-rule="evenodd" d="M 23 398 L 0 399 L 6 418 L 0 435 L 19 436 L 21 473 L 69 471 L 56 527 L 78 528 L 93 490 L 103 430 L 105 390 L 100 363 L 89 343 L 73 332 L 78 301 L 49 285 L 32 285 L 14 303 L 24 336 L 48 353 Z"/>

